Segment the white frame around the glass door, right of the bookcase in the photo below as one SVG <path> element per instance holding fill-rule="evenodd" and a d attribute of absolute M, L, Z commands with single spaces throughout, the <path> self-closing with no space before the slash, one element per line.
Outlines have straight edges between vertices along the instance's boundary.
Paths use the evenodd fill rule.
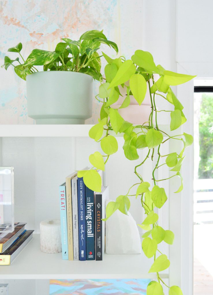
<path fill-rule="evenodd" d="M 213 78 L 213 63 L 178 63 L 177 72 L 197 75 L 196 78 Z M 184 106 L 187 122 L 184 131 L 194 133 L 194 82 L 177 87 L 177 97 Z M 186 149 L 186 161 L 182 166 L 184 189 L 181 206 L 181 286 L 183 294 L 193 295 L 193 181 L 194 148 Z"/>

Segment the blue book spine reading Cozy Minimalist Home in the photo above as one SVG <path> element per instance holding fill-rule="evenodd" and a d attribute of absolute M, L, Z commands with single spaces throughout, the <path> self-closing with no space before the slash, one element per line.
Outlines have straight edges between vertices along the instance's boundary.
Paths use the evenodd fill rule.
<path fill-rule="evenodd" d="M 86 260 L 86 197 L 83 177 L 77 180 L 79 260 Z"/>

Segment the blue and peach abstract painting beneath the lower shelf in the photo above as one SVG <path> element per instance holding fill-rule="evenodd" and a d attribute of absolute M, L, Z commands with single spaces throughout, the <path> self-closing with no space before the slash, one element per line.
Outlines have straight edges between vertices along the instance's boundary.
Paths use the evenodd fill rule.
<path fill-rule="evenodd" d="M 148 279 L 50 280 L 50 295 L 142 295 Z"/>

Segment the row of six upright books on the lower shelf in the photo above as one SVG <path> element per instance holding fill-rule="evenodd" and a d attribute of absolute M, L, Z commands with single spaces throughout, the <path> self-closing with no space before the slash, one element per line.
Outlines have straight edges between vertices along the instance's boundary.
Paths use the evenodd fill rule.
<path fill-rule="evenodd" d="M 62 258 L 103 260 L 105 222 L 101 219 L 105 218 L 108 187 L 96 193 L 85 186 L 83 177 L 73 173 L 59 186 L 59 198 Z"/>

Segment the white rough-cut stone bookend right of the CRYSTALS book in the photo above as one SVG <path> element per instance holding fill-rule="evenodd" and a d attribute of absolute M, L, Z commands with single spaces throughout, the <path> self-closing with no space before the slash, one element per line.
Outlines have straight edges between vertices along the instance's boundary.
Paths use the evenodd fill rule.
<path fill-rule="evenodd" d="M 140 254 L 141 239 L 134 218 L 121 213 L 113 213 L 106 221 L 107 254 Z"/>

